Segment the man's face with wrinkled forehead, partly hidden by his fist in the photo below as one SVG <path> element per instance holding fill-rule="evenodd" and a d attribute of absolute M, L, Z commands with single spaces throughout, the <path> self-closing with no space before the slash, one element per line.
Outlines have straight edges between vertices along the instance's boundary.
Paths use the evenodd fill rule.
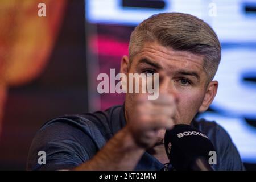
<path fill-rule="evenodd" d="M 131 65 L 121 65 L 121 72 L 126 69 L 127 73 L 159 73 L 159 94 L 172 94 L 177 99 L 175 123 L 190 124 L 198 111 L 209 107 L 217 92 L 217 82 L 206 85 L 203 59 L 200 55 L 174 51 L 150 42 L 133 57 Z M 208 93 L 210 89 L 213 93 Z M 134 94 L 126 94 L 125 105 L 129 115 L 134 105 Z"/>

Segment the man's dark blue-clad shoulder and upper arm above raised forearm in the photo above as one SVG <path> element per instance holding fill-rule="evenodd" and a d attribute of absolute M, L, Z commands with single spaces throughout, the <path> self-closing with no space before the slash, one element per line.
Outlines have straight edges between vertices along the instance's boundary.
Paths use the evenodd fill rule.
<path fill-rule="evenodd" d="M 122 106 L 105 111 L 56 117 L 39 129 L 28 154 L 28 169 L 69 169 L 84 163 L 113 137 Z M 38 164 L 38 152 L 46 153 L 48 165 Z M 63 166 L 65 164 L 65 166 Z"/>

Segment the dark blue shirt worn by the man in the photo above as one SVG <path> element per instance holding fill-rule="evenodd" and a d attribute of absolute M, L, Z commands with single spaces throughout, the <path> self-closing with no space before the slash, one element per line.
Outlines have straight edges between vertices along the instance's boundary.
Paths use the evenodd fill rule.
<path fill-rule="evenodd" d="M 117 131 L 125 126 L 124 105 L 95 113 L 64 115 L 45 123 L 32 141 L 28 170 L 72 169 L 93 157 Z M 206 134 L 217 153 L 215 170 L 244 170 L 240 155 L 228 133 L 216 122 L 193 121 Z M 39 151 L 46 154 L 42 164 Z M 145 152 L 135 170 L 162 170 L 164 165 Z"/>

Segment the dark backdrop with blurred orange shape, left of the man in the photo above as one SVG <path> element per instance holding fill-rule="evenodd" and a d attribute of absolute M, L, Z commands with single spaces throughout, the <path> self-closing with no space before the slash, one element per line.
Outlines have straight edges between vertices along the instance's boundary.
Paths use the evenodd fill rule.
<path fill-rule="evenodd" d="M 0 22 L 0 169 L 24 170 L 43 123 L 88 110 L 84 0 L 2 0 Z"/>

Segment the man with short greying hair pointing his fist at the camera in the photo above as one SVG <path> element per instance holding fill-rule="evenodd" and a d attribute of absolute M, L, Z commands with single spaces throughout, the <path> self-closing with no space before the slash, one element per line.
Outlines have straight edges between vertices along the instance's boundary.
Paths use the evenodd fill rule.
<path fill-rule="evenodd" d="M 122 106 L 52 119 L 36 134 L 27 168 L 162 170 L 167 164 L 172 169 L 164 133 L 183 123 L 211 140 L 217 152 L 214 169 L 244 169 L 222 127 L 193 119 L 208 109 L 217 93 L 218 82 L 212 80 L 220 59 L 217 35 L 203 20 L 182 13 L 151 16 L 131 34 L 129 57 L 122 57 L 121 73 L 158 73 L 159 98 L 127 93 Z M 46 164 L 38 163 L 39 151 L 46 152 Z"/>

